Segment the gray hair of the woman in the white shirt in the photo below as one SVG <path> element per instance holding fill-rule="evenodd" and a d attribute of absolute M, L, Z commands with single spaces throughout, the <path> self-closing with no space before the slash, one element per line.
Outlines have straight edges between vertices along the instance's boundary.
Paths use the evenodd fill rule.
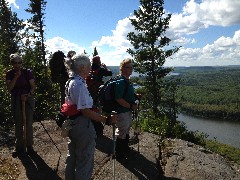
<path fill-rule="evenodd" d="M 90 64 L 90 59 L 85 54 L 76 54 L 71 59 L 66 60 L 66 67 L 70 72 L 76 72 L 81 66 Z"/>

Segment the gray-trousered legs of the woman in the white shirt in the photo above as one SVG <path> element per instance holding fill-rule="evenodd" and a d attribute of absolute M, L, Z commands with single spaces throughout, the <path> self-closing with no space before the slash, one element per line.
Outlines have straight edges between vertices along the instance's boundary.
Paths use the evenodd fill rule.
<path fill-rule="evenodd" d="M 69 152 L 70 157 L 68 157 L 66 161 L 66 178 L 68 178 L 68 174 L 73 172 L 73 170 L 70 169 L 74 168 L 73 179 L 91 179 L 96 145 L 96 133 L 91 120 L 83 116 L 80 116 L 77 120 L 75 119 L 69 134 L 71 140 L 75 142 L 75 146 L 72 148 L 72 151 Z M 71 146 L 69 149 L 71 149 Z M 74 155 L 72 156 L 74 157 L 74 161 L 71 155 Z"/>

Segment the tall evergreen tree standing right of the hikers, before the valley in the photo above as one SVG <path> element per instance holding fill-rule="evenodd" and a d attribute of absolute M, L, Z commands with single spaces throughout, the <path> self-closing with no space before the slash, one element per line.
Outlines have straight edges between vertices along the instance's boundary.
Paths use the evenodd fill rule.
<path fill-rule="evenodd" d="M 163 4 L 163 0 L 140 0 L 141 6 L 130 18 L 135 31 L 127 36 L 133 46 L 127 52 L 133 57 L 134 70 L 144 74 L 142 106 L 148 111 L 142 112 L 141 119 L 148 131 L 159 134 L 159 157 L 162 140 L 175 134 L 177 112 L 176 85 L 166 78 L 173 68 L 164 63 L 179 50 L 169 47 L 166 30 L 171 14 L 165 14 Z"/>

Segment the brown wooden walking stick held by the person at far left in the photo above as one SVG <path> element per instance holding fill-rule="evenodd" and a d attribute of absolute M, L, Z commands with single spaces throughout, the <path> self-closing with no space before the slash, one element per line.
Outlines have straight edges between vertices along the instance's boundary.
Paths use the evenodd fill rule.
<path fill-rule="evenodd" d="M 22 101 L 22 120 L 23 120 L 23 147 L 24 152 L 26 152 L 27 148 L 27 123 L 26 123 L 26 95 L 21 95 L 21 101 Z"/>

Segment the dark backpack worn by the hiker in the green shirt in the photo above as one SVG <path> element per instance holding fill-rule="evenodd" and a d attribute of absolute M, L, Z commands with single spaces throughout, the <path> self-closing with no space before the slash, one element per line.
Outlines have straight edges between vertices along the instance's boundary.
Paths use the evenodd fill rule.
<path fill-rule="evenodd" d="M 120 77 L 116 76 L 114 78 L 109 79 L 105 82 L 100 88 L 98 93 L 98 100 L 100 102 L 100 106 L 102 107 L 102 111 L 105 113 L 111 113 L 112 111 L 116 110 L 117 102 L 115 100 L 115 84 L 116 81 L 119 80 Z M 129 82 L 124 79 L 125 82 L 125 89 L 123 96 L 126 95 Z"/>

